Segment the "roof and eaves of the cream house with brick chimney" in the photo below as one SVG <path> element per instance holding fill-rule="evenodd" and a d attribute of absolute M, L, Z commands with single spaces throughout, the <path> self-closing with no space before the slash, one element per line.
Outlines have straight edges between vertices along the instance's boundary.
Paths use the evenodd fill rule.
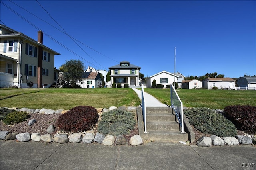
<path fill-rule="evenodd" d="M 48 51 L 52 51 L 54 53 L 54 55 L 60 55 L 60 53 L 50 49 L 49 47 L 46 47 L 45 45 L 42 45 L 41 43 L 38 43 L 36 40 L 28 37 L 27 35 L 21 33 L 21 32 L 18 32 L 18 31 L 15 31 L 14 29 L 11 29 L 9 27 L 7 27 L 6 25 L 0 25 L 1 28 L 4 28 L 12 33 L 7 33 L 7 34 L 1 34 L 0 37 L 1 38 L 21 38 L 21 39 L 24 39 L 24 40 L 27 40 L 27 41 L 30 41 L 31 43 L 34 43 L 40 47 L 43 47 L 44 49 L 47 49 Z"/>

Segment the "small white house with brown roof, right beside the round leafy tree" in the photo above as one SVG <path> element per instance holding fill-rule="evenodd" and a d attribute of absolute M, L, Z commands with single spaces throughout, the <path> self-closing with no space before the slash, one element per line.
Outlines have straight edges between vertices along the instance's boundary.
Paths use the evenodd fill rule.
<path fill-rule="evenodd" d="M 100 72 L 84 72 L 82 81 L 77 82 L 81 88 L 98 88 L 102 86 Z"/>

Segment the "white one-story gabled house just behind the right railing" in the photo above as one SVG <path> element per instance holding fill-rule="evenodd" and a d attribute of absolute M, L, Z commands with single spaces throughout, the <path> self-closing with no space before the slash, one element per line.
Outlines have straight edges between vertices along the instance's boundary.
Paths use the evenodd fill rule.
<path fill-rule="evenodd" d="M 158 72 L 149 78 L 147 78 L 147 88 L 151 88 L 152 82 L 156 80 L 156 84 L 162 84 L 164 85 L 164 88 L 166 88 L 166 85 L 172 84 L 175 80 L 175 82 L 178 81 L 178 75 L 174 75 L 174 73 L 170 73 L 167 71 L 161 71 Z"/>

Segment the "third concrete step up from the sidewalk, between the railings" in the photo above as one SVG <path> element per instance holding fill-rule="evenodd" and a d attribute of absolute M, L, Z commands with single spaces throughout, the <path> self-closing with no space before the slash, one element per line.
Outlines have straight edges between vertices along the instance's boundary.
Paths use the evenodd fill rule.
<path fill-rule="evenodd" d="M 147 121 L 175 121 L 176 116 L 170 113 L 147 114 Z"/>

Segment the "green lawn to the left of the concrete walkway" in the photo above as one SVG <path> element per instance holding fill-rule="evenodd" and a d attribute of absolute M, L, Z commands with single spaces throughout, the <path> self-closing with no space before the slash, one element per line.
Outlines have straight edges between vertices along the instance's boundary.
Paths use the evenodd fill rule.
<path fill-rule="evenodd" d="M 20 88 L 1 89 L 1 107 L 29 109 L 71 109 L 87 105 L 95 108 L 138 106 L 140 99 L 130 88 Z"/>

